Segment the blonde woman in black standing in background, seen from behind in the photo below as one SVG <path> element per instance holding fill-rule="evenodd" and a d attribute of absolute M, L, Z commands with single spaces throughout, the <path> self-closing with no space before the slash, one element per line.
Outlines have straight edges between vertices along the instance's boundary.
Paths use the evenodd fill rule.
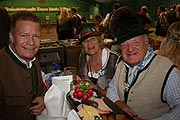
<path fill-rule="evenodd" d="M 60 15 L 57 20 L 57 35 L 58 40 L 72 39 L 74 37 L 74 29 L 71 24 L 68 9 L 65 7 L 61 8 Z"/>

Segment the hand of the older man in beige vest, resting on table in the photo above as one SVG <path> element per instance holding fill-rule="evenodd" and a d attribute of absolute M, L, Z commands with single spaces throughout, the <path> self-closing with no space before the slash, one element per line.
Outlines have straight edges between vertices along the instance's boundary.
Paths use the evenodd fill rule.
<path fill-rule="evenodd" d="M 124 110 L 127 114 L 129 114 L 132 117 L 137 117 L 137 114 L 124 102 L 118 100 L 115 102 L 116 105 L 118 105 L 122 110 Z"/>

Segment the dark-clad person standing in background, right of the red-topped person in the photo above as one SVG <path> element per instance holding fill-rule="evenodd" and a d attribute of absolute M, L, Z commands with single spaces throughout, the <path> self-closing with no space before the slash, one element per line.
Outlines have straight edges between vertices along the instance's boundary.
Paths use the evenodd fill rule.
<path fill-rule="evenodd" d="M 168 17 L 166 15 L 166 8 L 163 5 L 158 6 L 157 14 L 159 15 L 156 23 L 155 34 L 157 36 L 165 37 L 169 27 Z"/>

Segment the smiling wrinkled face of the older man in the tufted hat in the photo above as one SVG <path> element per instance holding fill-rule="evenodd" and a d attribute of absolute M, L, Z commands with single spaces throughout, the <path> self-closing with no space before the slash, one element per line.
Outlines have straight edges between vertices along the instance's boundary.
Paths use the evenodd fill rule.
<path fill-rule="evenodd" d="M 140 35 L 121 43 L 120 48 L 124 61 L 135 66 L 145 57 L 148 41 L 145 35 Z"/>

